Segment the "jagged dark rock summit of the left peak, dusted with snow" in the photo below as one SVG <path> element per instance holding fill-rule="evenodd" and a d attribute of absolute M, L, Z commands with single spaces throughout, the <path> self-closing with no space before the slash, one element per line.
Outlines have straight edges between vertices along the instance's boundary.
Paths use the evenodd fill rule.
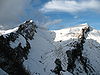
<path fill-rule="evenodd" d="M 26 21 L 26 23 L 19 26 L 17 33 L 21 34 L 25 39 L 32 40 L 34 32 L 36 32 L 35 28 L 34 22 Z"/>

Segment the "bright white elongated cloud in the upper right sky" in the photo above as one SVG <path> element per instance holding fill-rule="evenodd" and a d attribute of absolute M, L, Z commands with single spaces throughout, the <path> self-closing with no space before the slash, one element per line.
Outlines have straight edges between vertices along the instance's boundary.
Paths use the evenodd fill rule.
<path fill-rule="evenodd" d="M 52 0 L 47 2 L 41 9 L 43 12 L 68 12 L 77 13 L 87 10 L 100 10 L 99 0 Z"/>

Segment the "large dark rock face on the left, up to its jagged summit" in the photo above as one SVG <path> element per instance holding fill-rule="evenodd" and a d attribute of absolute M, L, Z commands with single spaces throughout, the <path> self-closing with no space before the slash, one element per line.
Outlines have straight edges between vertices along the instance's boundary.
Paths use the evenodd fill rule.
<path fill-rule="evenodd" d="M 36 32 L 36 25 L 33 22 L 21 24 L 16 32 L 0 36 L 0 68 L 9 75 L 29 75 L 29 72 L 23 67 L 23 61 L 27 60 L 29 49 L 31 48 L 29 40 L 33 39 Z M 10 43 L 15 42 L 22 37 L 26 41 L 25 46 L 19 41 L 14 48 Z"/>

